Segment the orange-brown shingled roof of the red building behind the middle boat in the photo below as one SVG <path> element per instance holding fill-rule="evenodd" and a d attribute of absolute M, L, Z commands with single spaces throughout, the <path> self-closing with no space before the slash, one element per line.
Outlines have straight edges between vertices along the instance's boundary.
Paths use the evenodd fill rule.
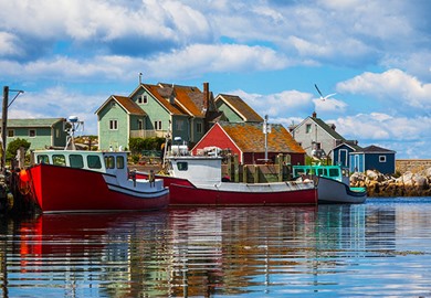
<path fill-rule="evenodd" d="M 224 123 L 219 125 L 243 152 L 262 152 L 265 146 L 265 135 L 262 124 Z M 273 124 L 267 134 L 269 152 L 305 153 L 304 149 L 293 139 L 292 135 L 278 124 Z"/>

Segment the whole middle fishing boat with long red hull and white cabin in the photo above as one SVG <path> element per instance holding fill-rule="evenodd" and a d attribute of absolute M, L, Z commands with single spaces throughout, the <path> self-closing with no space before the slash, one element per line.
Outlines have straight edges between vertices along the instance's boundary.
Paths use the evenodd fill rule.
<path fill-rule="evenodd" d="M 172 146 L 175 149 L 175 147 Z M 174 150 L 166 158 L 168 175 L 156 175 L 169 188 L 169 205 L 304 205 L 317 204 L 312 180 L 269 183 L 222 181 L 222 158 L 218 155 L 189 156 Z M 147 177 L 137 173 L 138 177 Z"/>

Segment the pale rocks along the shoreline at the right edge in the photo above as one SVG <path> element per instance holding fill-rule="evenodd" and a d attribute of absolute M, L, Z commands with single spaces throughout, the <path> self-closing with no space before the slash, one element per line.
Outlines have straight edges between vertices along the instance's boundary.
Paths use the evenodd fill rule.
<path fill-rule="evenodd" d="M 431 196 L 431 168 L 398 178 L 368 170 L 351 174 L 350 185 L 367 188 L 368 196 Z"/>

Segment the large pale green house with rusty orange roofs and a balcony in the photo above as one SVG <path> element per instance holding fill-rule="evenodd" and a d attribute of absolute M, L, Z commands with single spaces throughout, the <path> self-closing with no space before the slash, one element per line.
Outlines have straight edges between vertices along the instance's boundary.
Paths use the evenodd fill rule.
<path fill-rule="evenodd" d="M 139 84 L 127 97 L 109 96 L 95 111 L 101 150 L 128 148 L 130 138 L 181 137 L 196 143 L 220 117 L 209 84 Z"/>

